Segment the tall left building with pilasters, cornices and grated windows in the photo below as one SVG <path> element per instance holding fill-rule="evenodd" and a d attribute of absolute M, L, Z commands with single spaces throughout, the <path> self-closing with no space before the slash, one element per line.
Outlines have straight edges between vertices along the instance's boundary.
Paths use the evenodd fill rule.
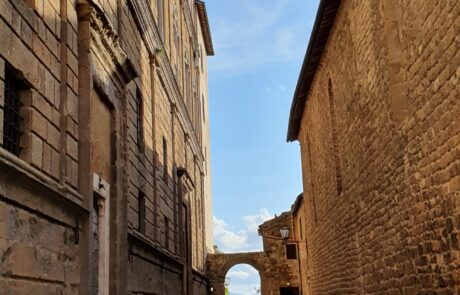
<path fill-rule="evenodd" d="M 207 294 L 202 1 L 0 1 L 2 294 Z"/>

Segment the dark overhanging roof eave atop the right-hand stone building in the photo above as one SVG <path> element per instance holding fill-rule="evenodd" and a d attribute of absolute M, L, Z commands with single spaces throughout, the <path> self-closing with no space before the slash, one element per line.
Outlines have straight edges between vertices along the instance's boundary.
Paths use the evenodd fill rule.
<path fill-rule="evenodd" d="M 299 79 L 294 92 L 289 115 L 287 141 L 298 139 L 300 123 L 302 120 L 305 103 L 326 46 L 329 33 L 335 21 L 335 16 L 340 5 L 340 0 L 321 0 L 316 14 L 315 24 L 308 43 L 307 53 L 300 70 Z"/>

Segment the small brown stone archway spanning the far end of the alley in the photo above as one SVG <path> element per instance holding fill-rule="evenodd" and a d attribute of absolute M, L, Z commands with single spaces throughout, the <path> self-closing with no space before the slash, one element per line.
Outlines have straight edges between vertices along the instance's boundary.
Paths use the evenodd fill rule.
<path fill-rule="evenodd" d="M 209 254 L 207 258 L 207 275 L 209 277 L 210 287 L 214 289 L 211 294 L 225 294 L 225 276 L 230 268 L 238 264 L 248 264 L 259 272 L 262 294 L 264 294 L 264 286 L 267 279 L 265 260 L 266 257 L 264 252 Z"/>

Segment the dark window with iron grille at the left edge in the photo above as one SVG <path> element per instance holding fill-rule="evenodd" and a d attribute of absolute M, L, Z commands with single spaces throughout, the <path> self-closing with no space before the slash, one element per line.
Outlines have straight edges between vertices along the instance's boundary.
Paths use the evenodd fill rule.
<path fill-rule="evenodd" d="M 21 154 L 21 95 L 27 86 L 17 78 L 17 71 L 11 65 L 5 65 L 5 104 L 3 105 L 3 144 L 2 147 L 10 153 Z"/>

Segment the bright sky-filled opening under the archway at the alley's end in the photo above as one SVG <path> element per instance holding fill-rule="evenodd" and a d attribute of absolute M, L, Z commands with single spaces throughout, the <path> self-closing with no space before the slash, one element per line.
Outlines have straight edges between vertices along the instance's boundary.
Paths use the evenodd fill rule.
<path fill-rule="evenodd" d="M 258 295 L 262 290 L 260 271 L 248 263 L 232 265 L 225 273 L 225 295 Z"/>

